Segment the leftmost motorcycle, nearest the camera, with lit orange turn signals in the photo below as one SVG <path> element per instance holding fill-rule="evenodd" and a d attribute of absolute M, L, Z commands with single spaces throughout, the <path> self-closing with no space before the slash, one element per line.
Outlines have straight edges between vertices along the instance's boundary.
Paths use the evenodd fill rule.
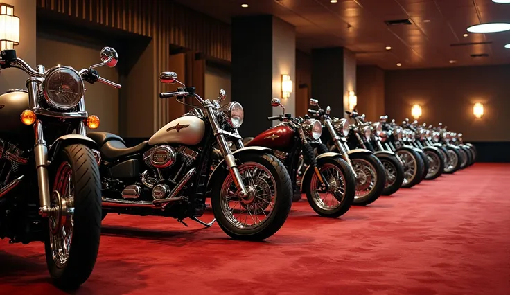
<path fill-rule="evenodd" d="M 46 70 L 33 69 L 15 50 L 1 51 L 1 69 L 21 69 L 30 78 L 28 90 L 0 96 L 0 238 L 44 242 L 49 273 L 62 289 L 89 278 L 99 249 L 98 147 L 85 136 L 99 118 L 85 110 L 84 81 L 121 88 L 94 70 L 116 66 L 116 51 L 105 47 L 100 58 L 81 71 L 61 65 Z"/>

